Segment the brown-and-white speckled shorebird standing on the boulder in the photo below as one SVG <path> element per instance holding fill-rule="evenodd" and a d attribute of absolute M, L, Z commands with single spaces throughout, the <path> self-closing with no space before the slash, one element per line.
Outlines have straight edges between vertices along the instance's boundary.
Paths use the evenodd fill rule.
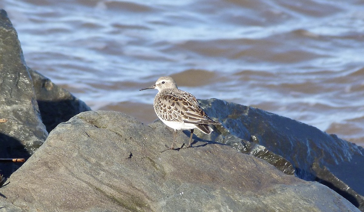
<path fill-rule="evenodd" d="M 221 125 L 220 122 L 212 120 L 205 114 L 192 94 L 179 90 L 177 83 L 171 77 L 160 77 L 154 85 L 140 90 L 146 89 L 158 90 L 154 97 L 154 111 L 158 118 L 175 132 L 172 145 L 170 147 L 166 145 L 166 150 L 174 150 L 177 130 L 191 130 L 190 142 L 185 147 L 188 148 L 191 147 L 195 128 L 201 130 L 202 133 L 210 134 L 213 129 L 209 125 Z"/>

